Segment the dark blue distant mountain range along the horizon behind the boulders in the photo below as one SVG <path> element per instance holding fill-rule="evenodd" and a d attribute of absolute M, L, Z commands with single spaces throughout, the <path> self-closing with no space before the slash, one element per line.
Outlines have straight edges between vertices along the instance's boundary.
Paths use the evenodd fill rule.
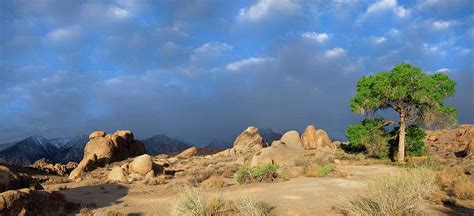
<path fill-rule="evenodd" d="M 281 138 L 280 133 L 271 129 L 263 129 L 260 133 L 268 144 Z M 41 158 L 63 164 L 68 161 L 79 162 L 84 155 L 84 147 L 88 141 L 87 135 L 54 139 L 31 136 L 18 142 L 0 144 L 0 162 L 29 165 Z M 150 155 L 176 153 L 193 146 L 180 138 L 172 138 L 163 134 L 140 141 L 143 142 Z M 212 140 L 204 148 L 223 149 L 229 147 L 232 147 L 232 142 Z"/>

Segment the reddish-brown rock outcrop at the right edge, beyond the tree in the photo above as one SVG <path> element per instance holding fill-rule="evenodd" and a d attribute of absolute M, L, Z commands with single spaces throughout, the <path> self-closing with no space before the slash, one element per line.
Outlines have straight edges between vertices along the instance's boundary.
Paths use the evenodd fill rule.
<path fill-rule="evenodd" d="M 472 157 L 474 125 L 460 125 L 451 130 L 426 131 L 426 150 L 441 157 Z"/>

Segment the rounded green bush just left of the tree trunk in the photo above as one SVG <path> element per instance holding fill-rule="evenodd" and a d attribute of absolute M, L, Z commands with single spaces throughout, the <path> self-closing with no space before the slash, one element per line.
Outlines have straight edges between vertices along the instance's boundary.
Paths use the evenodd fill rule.
<path fill-rule="evenodd" d="M 350 125 L 346 131 L 349 151 L 365 151 L 370 157 L 385 158 L 389 155 L 390 134 L 385 130 L 382 119 L 364 119 Z"/>

